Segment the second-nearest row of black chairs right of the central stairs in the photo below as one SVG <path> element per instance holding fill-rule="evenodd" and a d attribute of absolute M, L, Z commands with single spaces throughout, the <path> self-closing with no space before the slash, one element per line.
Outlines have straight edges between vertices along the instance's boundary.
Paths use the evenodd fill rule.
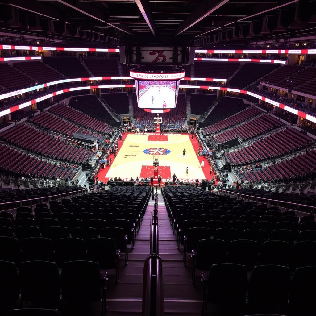
<path fill-rule="evenodd" d="M 255 265 L 277 264 L 288 266 L 292 271 L 298 267 L 316 265 L 316 242 L 300 241 L 290 245 L 286 241 L 268 240 L 262 245 L 255 240 L 232 240 L 229 244 L 220 239 L 195 239 L 194 229 L 190 231 L 184 251 L 191 254 L 192 283 L 196 270 L 209 270 L 212 264 L 236 263 L 252 271 Z M 199 237 L 197 237 L 199 238 Z"/>

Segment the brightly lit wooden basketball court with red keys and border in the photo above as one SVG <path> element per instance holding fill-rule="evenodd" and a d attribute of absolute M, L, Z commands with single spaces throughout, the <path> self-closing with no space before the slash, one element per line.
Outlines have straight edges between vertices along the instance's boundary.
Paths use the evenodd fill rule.
<path fill-rule="evenodd" d="M 129 181 L 150 178 L 154 174 L 153 158 L 158 156 L 158 173 L 162 181 L 172 180 L 175 173 L 183 182 L 195 182 L 196 179 L 211 179 L 210 165 L 204 157 L 197 157 L 198 144 L 196 138 L 191 140 L 191 135 L 155 135 L 155 134 L 127 134 L 119 142 L 119 152 L 112 164 L 105 169 L 100 169 L 98 177 L 107 181 L 109 178 L 121 178 Z M 183 156 L 183 149 L 186 153 Z M 111 155 L 113 159 L 113 155 Z M 201 168 L 204 159 L 205 170 Z M 189 172 L 186 175 L 186 167 Z"/>

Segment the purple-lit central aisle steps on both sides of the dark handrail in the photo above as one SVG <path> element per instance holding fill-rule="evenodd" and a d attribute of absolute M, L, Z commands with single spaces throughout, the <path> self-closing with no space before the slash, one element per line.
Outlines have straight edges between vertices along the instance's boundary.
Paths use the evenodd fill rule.
<path fill-rule="evenodd" d="M 115 285 L 111 277 L 107 284 L 106 301 L 108 316 L 141 315 L 143 267 L 149 255 L 149 231 L 151 226 L 154 201 L 150 199 L 143 222 L 135 240 L 135 248 L 129 249 L 128 265 L 124 267 L 124 254 L 120 259 L 120 281 Z M 184 267 L 183 246 L 177 249 L 176 234 L 168 218 L 163 197 L 159 194 L 158 210 L 159 256 L 163 264 L 163 282 L 165 297 L 165 314 L 170 316 L 198 316 L 202 306 L 202 282 L 191 283 L 191 258 L 187 255 Z M 130 245 L 128 246 L 130 248 Z"/>

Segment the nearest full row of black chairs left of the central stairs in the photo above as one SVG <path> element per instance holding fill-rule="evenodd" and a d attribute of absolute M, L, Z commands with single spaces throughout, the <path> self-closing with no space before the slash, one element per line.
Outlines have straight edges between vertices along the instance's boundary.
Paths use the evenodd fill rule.
<path fill-rule="evenodd" d="M 0 302 L 2 306 L 10 305 L 20 296 L 21 307 L 27 301 L 59 308 L 64 302 L 82 306 L 101 301 L 103 316 L 107 309 L 106 276 L 95 261 L 65 262 L 61 273 L 54 262 L 22 262 L 18 272 L 13 262 L 0 261 Z"/>

